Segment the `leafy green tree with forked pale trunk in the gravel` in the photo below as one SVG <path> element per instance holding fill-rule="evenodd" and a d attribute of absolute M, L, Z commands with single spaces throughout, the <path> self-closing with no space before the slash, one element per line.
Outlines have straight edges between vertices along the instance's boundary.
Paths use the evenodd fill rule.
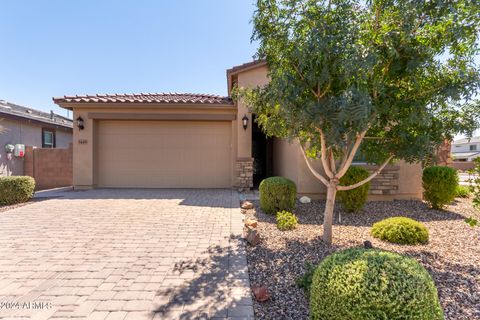
<path fill-rule="evenodd" d="M 395 159 L 417 162 L 445 138 L 471 134 L 480 111 L 478 0 L 257 0 L 252 40 L 270 82 L 238 88 L 270 136 L 298 139 L 327 187 L 324 241 L 336 192 Z M 476 109 L 475 109 L 476 108 Z M 340 186 L 361 150 L 379 168 Z M 308 158 L 320 158 L 317 172 Z"/>

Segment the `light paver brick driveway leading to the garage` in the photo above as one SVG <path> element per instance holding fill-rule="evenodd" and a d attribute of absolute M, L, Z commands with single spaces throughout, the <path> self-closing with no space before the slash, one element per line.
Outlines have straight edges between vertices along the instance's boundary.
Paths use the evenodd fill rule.
<path fill-rule="evenodd" d="M 238 201 L 99 189 L 0 213 L 0 318 L 253 319 Z"/>

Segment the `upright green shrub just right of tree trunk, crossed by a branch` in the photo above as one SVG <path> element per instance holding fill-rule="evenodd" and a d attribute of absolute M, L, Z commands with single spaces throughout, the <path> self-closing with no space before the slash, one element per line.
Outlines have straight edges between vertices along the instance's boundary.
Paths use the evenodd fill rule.
<path fill-rule="evenodd" d="M 367 169 L 362 167 L 350 167 L 345 175 L 340 179 L 340 185 L 349 186 L 360 182 L 366 178 L 370 173 Z M 339 191 L 338 199 L 345 211 L 355 212 L 359 211 L 365 206 L 368 197 L 368 190 L 370 189 L 370 182 L 364 185 L 347 191 Z"/>

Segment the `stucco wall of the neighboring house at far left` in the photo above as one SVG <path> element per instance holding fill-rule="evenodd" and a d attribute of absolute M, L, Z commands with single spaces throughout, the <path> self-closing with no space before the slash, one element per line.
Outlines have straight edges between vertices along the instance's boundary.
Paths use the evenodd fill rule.
<path fill-rule="evenodd" d="M 10 119 L 3 119 L 1 125 L 5 132 L 0 133 L 0 176 L 23 175 L 23 159 L 13 156 L 12 160 L 7 160 L 5 145 L 21 143 L 41 148 L 42 126 Z M 55 137 L 57 148 L 68 148 L 72 142 L 72 134 L 69 132 L 57 129 Z"/>

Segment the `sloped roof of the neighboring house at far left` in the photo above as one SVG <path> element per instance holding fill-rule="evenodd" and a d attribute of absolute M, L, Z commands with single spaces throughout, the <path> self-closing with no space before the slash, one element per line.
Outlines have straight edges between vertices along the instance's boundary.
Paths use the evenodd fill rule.
<path fill-rule="evenodd" d="M 43 112 L 0 100 L 0 118 L 27 120 L 65 128 L 72 128 L 72 120 L 53 112 Z"/>

